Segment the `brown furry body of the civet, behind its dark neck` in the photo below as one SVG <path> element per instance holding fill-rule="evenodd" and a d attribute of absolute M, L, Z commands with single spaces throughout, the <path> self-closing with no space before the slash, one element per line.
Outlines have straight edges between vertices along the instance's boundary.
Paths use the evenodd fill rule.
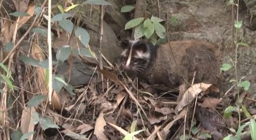
<path fill-rule="evenodd" d="M 148 82 L 174 88 L 184 82 L 183 78 L 191 83 L 195 71 L 194 83 L 218 83 L 219 52 L 216 45 L 202 40 L 188 40 L 172 41 L 170 46 L 174 57 L 168 43 L 159 46 L 154 62 L 144 75 Z"/>

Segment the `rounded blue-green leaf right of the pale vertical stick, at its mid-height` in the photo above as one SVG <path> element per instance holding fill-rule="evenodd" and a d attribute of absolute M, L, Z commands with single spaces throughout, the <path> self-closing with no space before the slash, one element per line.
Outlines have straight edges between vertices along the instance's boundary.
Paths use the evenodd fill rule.
<path fill-rule="evenodd" d="M 56 53 L 56 59 L 58 61 L 64 62 L 65 60 L 68 59 L 68 57 L 70 56 L 71 53 L 71 48 L 69 45 L 65 45 L 63 47 L 61 47 L 57 53 Z"/>

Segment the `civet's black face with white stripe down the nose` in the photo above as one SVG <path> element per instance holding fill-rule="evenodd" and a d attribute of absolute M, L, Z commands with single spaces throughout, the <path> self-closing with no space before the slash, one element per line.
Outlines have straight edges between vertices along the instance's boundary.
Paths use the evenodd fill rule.
<path fill-rule="evenodd" d="M 150 51 L 142 40 L 123 40 L 121 54 L 121 65 L 126 71 L 136 73 L 145 72 L 150 61 Z"/>

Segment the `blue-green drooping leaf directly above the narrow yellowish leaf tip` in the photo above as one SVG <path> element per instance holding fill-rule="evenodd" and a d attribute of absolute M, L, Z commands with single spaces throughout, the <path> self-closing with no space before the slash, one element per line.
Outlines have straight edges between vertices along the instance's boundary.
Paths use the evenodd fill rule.
<path fill-rule="evenodd" d="M 89 44 L 90 41 L 90 35 L 88 34 L 88 32 L 81 27 L 78 27 L 75 29 L 75 36 L 77 38 L 79 38 L 79 40 L 82 42 L 82 44 L 84 44 L 85 46 L 87 46 Z"/>

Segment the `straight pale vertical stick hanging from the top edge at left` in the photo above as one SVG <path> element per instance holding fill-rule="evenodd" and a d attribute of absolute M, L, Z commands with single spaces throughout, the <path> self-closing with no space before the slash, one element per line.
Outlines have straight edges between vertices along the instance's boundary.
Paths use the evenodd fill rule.
<path fill-rule="evenodd" d="M 48 59 L 49 59 L 49 87 L 48 87 L 48 95 L 49 95 L 49 104 L 51 105 L 52 98 L 52 52 L 51 52 L 51 0 L 48 0 L 48 34 L 47 34 L 47 42 L 48 42 Z"/>

